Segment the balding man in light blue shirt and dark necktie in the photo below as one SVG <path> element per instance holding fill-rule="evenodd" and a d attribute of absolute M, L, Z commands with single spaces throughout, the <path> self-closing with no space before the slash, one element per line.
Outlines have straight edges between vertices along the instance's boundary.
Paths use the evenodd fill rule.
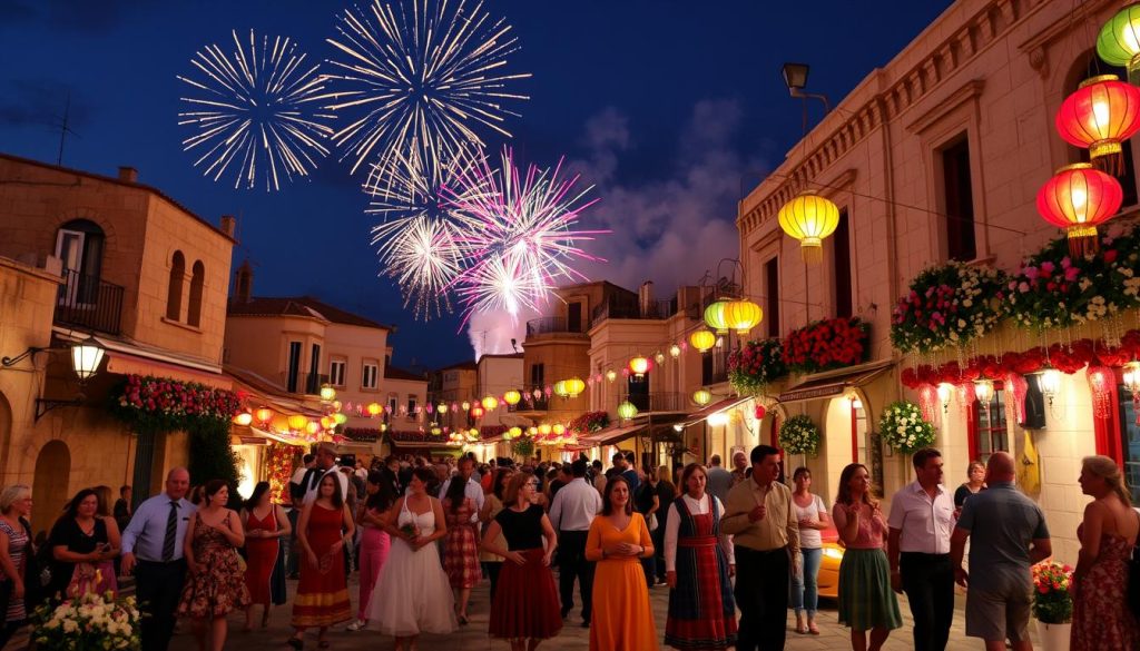
<path fill-rule="evenodd" d="M 186 580 L 182 543 L 195 507 L 186 499 L 190 473 L 176 467 L 166 490 L 139 505 L 123 531 L 123 573 L 135 571 L 136 596 L 144 612 L 142 651 L 166 651 L 174 633 L 174 609 Z"/>

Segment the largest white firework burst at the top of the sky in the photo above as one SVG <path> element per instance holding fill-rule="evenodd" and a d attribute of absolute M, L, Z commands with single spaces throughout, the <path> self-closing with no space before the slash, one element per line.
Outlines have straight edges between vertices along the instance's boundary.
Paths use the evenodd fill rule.
<path fill-rule="evenodd" d="M 508 88 L 530 75 L 502 72 L 518 39 L 482 2 L 467 10 L 464 0 L 373 0 L 368 11 L 337 18 L 328 42 L 348 59 L 328 62 L 326 107 L 353 114 L 333 138 L 352 173 L 368 162 L 374 172 L 390 166 L 414 140 L 451 161 L 469 145 L 483 146 L 477 129 L 511 136 L 504 122 L 519 114 L 503 103 L 528 99 Z"/>

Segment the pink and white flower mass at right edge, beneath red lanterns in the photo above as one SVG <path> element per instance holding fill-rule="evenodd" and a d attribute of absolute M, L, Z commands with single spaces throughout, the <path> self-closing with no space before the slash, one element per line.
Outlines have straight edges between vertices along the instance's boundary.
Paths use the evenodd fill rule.
<path fill-rule="evenodd" d="M 1008 282 L 1005 309 L 1017 325 L 1037 331 L 1083 325 L 1140 307 L 1140 231 L 1101 237 L 1100 254 L 1069 258 L 1053 239 L 1021 263 Z"/>

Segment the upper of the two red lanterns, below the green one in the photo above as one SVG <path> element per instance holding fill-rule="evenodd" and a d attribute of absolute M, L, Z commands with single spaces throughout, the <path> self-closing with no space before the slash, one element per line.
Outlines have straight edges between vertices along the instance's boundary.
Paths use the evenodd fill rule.
<path fill-rule="evenodd" d="M 1092 163 L 1114 177 L 1124 173 L 1121 143 L 1140 130 L 1140 88 L 1115 75 L 1094 76 L 1065 98 L 1057 112 L 1057 131 L 1066 141 L 1088 148 Z"/>

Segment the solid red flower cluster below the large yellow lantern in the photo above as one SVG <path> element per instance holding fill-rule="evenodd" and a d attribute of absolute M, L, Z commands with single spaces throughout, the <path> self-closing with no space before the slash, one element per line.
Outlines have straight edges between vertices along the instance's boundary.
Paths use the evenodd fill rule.
<path fill-rule="evenodd" d="M 866 360 L 870 325 L 858 317 L 824 319 L 788 333 L 783 360 L 797 373 L 819 373 Z"/>

